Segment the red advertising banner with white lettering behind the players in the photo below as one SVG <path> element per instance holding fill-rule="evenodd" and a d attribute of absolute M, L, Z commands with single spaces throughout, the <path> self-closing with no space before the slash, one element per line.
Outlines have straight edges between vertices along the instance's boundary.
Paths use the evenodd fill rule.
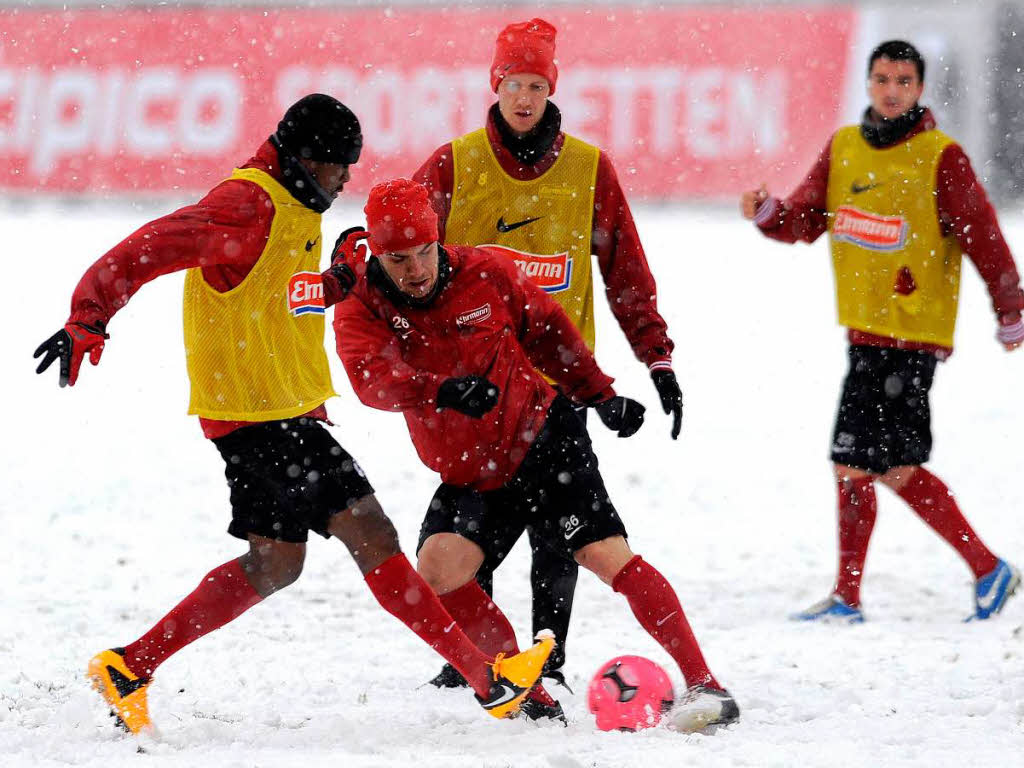
<path fill-rule="evenodd" d="M 558 28 L 564 130 L 636 197 L 795 183 L 839 116 L 849 8 L 0 10 L 0 190 L 201 191 L 312 91 L 359 117 L 355 190 L 483 124 L 498 31 Z"/>

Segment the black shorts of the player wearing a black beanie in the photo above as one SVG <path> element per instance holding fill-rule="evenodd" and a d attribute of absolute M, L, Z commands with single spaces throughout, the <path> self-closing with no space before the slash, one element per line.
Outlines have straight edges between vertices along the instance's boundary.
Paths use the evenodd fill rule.
<path fill-rule="evenodd" d="M 280 542 L 323 537 L 337 512 L 374 493 L 355 460 L 314 419 L 255 424 L 213 440 L 224 459 L 231 488 L 231 524 L 239 539 L 250 534 Z"/>

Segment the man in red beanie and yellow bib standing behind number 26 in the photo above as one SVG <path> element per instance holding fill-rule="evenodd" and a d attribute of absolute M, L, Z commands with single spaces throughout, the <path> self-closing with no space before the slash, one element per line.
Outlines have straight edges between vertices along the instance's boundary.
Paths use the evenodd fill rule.
<path fill-rule="evenodd" d="M 500 246 L 561 305 L 592 350 L 596 256 L 608 305 L 673 416 L 675 439 L 683 396 L 654 279 L 608 156 L 560 130 L 561 114 L 548 99 L 557 81 L 555 28 L 542 18 L 506 27 L 490 66 L 498 102 L 486 126 L 439 147 L 414 178 L 431 191 L 442 243 Z M 486 591 L 494 568 L 518 538 L 510 536 L 488 552 L 478 574 Z M 558 643 L 546 674 L 561 681 L 577 568 L 539 546 L 532 532 L 530 546 L 534 626 L 554 630 Z M 450 667 L 432 682 L 462 684 Z"/>

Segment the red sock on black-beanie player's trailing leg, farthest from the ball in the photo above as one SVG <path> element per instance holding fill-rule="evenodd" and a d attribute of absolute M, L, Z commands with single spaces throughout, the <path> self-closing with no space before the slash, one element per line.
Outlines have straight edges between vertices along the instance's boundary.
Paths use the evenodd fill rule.
<path fill-rule="evenodd" d="M 173 653 L 234 621 L 262 599 L 238 560 L 218 565 L 153 629 L 125 648 L 125 665 L 139 677 L 150 677 Z"/>

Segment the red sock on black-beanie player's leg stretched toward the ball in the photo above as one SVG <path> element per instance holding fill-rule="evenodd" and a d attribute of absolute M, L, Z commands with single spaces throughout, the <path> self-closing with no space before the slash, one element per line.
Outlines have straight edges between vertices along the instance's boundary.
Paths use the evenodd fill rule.
<path fill-rule="evenodd" d="M 403 554 L 389 557 L 367 573 L 366 580 L 384 610 L 459 670 L 477 695 L 486 696 L 490 692 L 490 659 L 466 637 L 458 622 L 444 610 L 441 600 L 413 569 Z M 483 590 L 479 587 L 477 590 L 490 602 Z M 501 614 L 497 607 L 495 611 Z"/>

